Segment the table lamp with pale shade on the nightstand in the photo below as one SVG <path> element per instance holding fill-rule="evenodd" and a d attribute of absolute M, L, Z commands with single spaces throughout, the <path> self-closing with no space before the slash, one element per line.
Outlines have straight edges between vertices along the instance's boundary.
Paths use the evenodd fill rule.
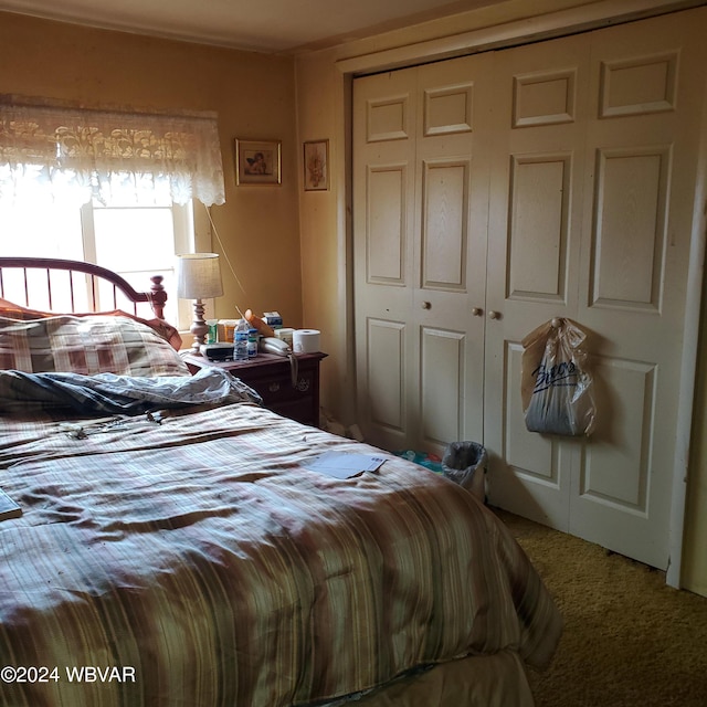
<path fill-rule="evenodd" d="M 209 326 L 203 318 L 203 302 L 223 294 L 218 253 L 189 253 L 177 256 L 177 296 L 194 300 L 194 320 L 189 330 L 194 336 L 192 352 L 199 355 L 207 342 Z"/>

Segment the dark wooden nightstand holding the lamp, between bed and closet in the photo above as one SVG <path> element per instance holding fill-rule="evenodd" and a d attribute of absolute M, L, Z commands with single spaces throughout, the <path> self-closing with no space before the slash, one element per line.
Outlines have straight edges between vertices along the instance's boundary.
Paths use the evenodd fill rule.
<path fill-rule="evenodd" d="M 183 357 L 192 373 L 205 366 L 223 368 L 256 390 L 268 410 L 285 418 L 319 426 L 319 361 L 326 354 L 297 354 L 297 382 L 293 387 L 289 359 L 261 354 L 247 361 L 210 361 L 202 356 Z"/>

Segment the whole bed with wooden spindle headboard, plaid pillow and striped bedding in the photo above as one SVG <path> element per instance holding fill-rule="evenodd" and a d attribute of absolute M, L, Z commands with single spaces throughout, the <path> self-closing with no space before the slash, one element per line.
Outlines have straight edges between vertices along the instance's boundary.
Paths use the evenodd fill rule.
<path fill-rule="evenodd" d="M 6 297 L 10 271 L 52 289 L 56 264 L 130 304 Z M 0 488 L 22 508 L 0 521 L 0 704 L 532 705 L 561 616 L 503 523 L 229 373 L 189 376 L 155 284 L 0 258 Z M 325 453 L 380 466 L 335 478 Z"/>

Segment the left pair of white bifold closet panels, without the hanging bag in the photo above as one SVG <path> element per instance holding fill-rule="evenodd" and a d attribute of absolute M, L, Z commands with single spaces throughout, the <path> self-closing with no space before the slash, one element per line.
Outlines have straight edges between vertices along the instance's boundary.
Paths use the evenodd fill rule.
<path fill-rule="evenodd" d="M 359 424 L 387 449 L 483 435 L 489 57 L 355 82 Z"/>

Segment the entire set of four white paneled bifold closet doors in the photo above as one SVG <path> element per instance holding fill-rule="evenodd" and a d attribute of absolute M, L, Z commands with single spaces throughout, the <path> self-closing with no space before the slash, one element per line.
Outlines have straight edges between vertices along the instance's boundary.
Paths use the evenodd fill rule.
<path fill-rule="evenodd" d="M 493 504 L 668 563 L 704 8 L 355 81 L 359 422 L 483 442 Z M 598 424 L 529 433 L 520 341 L 589 333 Z"/>

